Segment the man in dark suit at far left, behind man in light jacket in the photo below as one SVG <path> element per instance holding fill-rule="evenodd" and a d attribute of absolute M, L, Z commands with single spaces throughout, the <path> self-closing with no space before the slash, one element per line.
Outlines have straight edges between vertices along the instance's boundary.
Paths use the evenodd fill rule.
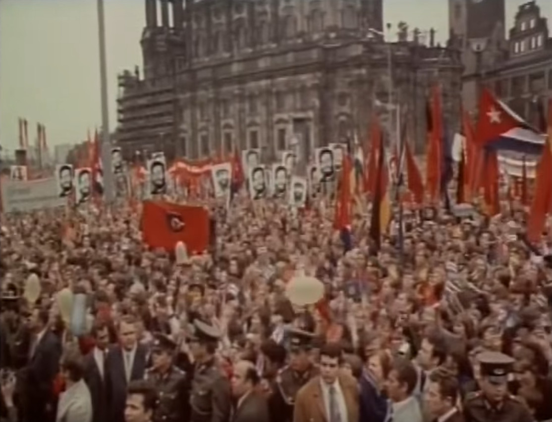
<path fill-rule="evenodd" d="M 52 385 L 59 371 L 61 344 L 48 327 L 48 320 L 46 309 L 35 308 L 28 316 L 31 340 L 29 362 L 24 371 L 25 422 L 48 422 L 55 418 Z"/>

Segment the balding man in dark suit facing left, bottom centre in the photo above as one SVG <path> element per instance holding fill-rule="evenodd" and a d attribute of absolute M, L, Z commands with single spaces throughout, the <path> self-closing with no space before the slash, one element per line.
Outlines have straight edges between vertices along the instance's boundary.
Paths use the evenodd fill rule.
<path fill-rule="evenodd" d="M 269 422 L 267 402 L 256 391 L 259 381 L 253 362 L 240 361 L 234 365 L 232 396 L 236 399 L 236 405 L 231 422 Z"/>

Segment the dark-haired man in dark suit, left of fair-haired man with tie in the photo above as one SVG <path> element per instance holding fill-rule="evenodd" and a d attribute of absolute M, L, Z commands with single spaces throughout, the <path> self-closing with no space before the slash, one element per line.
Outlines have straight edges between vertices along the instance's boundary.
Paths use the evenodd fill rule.
<path fill-rule="evenodd" d="M 105 357 L 109 344 L 107 323 L 99 322 L 92 327 L 94 348 L 84 357 L 84 382 L 88 385 L 94 410 L 93 422 L 107 419 L 107 396 L 105 395 Z"/>

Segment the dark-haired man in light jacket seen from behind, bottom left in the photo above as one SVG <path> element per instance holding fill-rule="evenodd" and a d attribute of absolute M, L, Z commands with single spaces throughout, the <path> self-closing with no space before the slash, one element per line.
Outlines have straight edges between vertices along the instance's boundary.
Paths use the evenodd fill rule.
<path fill-rule="evenodd" d="M 56 422 L 92 422 L 92 398 L 84 382 L 84 363 L 78 351 L 68 352 L 61 361 L 65 392 L 57 405 Z"/>

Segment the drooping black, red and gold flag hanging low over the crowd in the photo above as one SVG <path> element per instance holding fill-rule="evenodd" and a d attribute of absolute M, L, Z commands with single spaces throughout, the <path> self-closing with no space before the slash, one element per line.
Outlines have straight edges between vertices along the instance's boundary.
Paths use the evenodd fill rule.
<path fill-rule="evenodd" d="M 388 191 L 389 170 L 385 162 L 385 150 L 381 131 L 380 137 L 376 142 L 373 149 L 375 152 L 376 172 L 370 221 L 370 238 L 379 250 L 381 246 L 381 234 L 387 230 L 389 221 L 391 220 L 391 203 Z"/>

